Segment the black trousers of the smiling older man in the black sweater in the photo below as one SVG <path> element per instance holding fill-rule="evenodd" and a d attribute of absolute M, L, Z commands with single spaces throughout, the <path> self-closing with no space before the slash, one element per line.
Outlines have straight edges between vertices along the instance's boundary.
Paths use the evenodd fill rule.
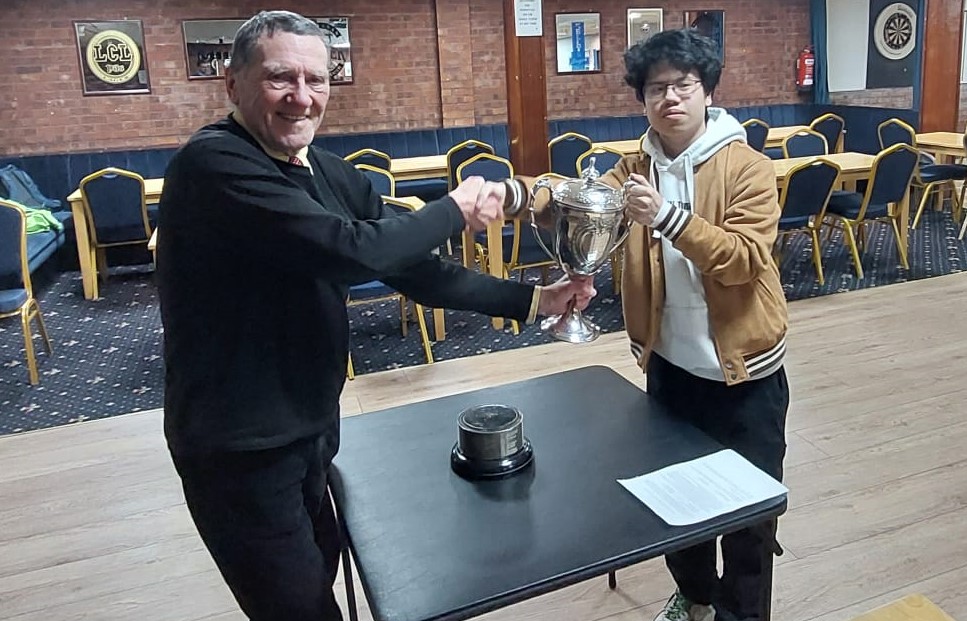
<path fill-rule="evenodd" d="M 340 536 L 318 438 L 264 450 L 175 456 L 188 510 L 253 621 L 341 621 Z"/>

